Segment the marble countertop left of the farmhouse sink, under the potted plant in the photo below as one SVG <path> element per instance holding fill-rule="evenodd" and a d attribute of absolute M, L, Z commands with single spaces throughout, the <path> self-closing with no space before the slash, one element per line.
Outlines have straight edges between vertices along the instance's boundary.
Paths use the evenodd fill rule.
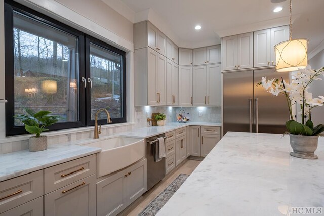
<path fill-rule="evenodd" d="M 0 154 L 0 182 L 80 157 L 100 152 L 100 148 L 75 144 L 49 145 L 47 150 Z"/>

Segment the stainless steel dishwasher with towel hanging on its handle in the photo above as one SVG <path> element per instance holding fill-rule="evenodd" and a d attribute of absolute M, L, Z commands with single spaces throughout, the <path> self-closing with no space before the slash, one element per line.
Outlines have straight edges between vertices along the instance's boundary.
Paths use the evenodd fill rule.
<path fill-rule="evenodd" d="M 165 134 L 160 134 L 146 139 L 147 190 L 151 189 L 166 175 L 166 158 L 155 162 L 155 147 L 159 137 L 166 138 Z"/>

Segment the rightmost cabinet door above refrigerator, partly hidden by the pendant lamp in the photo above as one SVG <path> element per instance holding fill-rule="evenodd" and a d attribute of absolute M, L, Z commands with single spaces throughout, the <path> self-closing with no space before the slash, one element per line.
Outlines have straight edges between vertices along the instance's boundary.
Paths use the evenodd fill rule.
<path fill-rule="evenodd" d="M 280 42 L 284 42 L 286 40 L 289 40 L 289 26 L 280 26 L 277 28 L 271 28 L 270 29 L 270 40 L 271 40 L 271 65 L 276 65 L 275 61 L 275 53 L 274 53 L 274 46 L 279 44 Z"/>

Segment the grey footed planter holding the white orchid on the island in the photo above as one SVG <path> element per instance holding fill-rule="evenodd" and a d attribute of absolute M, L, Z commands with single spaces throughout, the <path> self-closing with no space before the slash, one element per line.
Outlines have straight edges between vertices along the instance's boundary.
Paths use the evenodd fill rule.
<path fill-rule="evenodd" d="M 317 149 L 319 136 L 303 136 L 289 134 L 290 145 L 293 148 L 291 156 L 303 158 L 303 159 L 318 159 L 318 156 L 314 154 Z"/>

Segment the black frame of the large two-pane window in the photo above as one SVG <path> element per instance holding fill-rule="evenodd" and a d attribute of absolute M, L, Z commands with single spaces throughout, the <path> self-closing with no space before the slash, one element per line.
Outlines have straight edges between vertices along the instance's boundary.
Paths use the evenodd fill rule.
<path fill-rule="evenodd" d="M 81 77 L 90 77 L 90 42 L 101 46 L 105 49 L 108 49 L 112 52 L 118 53 L 122 56 L 122 76 L 123 83 L 122 88 L 122 115 L 123 118 L 112 119 L 112 123 L 123 123 L 127 122 L 126 117 L 126 53 L 121 51 L 111 45 L 106 44 L 105 42 L 87 35 L 79 30 L 76 30 L 62 22 L 59 22 L 51 17 L 48 17 L 42 13 L 39 13 L 33 9 L 30 9 L 26 6 L 23 6 L 19 3 L 16 3 L 12 0 L 5 0 L 5 97 L 7 99 L 6 103 L 6 136 L 14 136 L 21 134 L 28 134 L 24 126 L 15 126 L 14 125 L 14 107 L 15 107 L 15 96 L 14 96 L 14 11 L 17 11 L 21 14 L 24 14 L 28 17 L 31 17 L 34 20 L 47 24 L 51 27 L 54 27 L 63 32 L 69 33 L 78 38 L 78 90 L 79 90 L 79 120 L 74 122 L 59 122 L 48 127 L 49 131 L 57 131 L 60 129 L 71 129 L 78 127 L 86 127 L 94 125 L 94 121 L 90 119 L 90 88 L 83 88 L 84 83 L 81 80 Z M 89 54 L 89 55 L 88 55 Z M 108 110 L 109 111 L 109 110 Z M 107 124 L 106 120 L 98 120 L 99 124 Z"/>

